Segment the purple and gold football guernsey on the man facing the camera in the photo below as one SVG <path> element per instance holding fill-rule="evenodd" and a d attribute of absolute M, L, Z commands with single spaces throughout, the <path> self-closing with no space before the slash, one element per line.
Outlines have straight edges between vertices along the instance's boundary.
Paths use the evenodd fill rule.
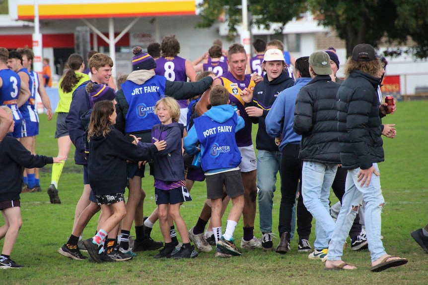
<path fill-rule="evenodd" d="M 252 122 L 250 117 L 247 115 L 247 112 L 245 112 L 245 102 L 242 101 L 239 94 L 245 87 L 252 92 L 255 83 L 251 80 L 250 74 L 245 74 L 244 80 L 236 79 L 230 72 L 226 72 L 223 76 L 218 78 L 221 80 L 221 84 L 227 89 L 227 91 L 229 91 L 230 104 L 235 104 L 236 107 L 238 107 L 239 113 L 245 122 L 245 126 L 235 134 L 236 143 L 239 147 L 250 146 L 253 144 L 251 140 Z"/>

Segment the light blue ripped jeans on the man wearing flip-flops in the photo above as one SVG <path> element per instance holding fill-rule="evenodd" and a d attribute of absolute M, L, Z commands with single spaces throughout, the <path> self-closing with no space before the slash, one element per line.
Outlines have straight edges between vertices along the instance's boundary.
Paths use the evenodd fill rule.
<path fill-rule="evenodd" d="M 379 171 L 377 163 L 373 163 L 373 166 Z M 331 261 L 342 259 L 343 245 L 352 227 L 355 216 L 357 215 L 355 207 L 357 206 L 359 208 L 362 200 L 366 203 L 364 211 L 365 231 L 371 261 L 373 262 L 386 254 L 382 240 L 380 239 L 380 214 L 385 200 L 383 199 L 382 190 L 380 188 L 379 176 L 373 173 L 371 175 L 370 184 L 367 187 L 365 185 L 361 187 L 361 181 L 358 182 L 358 172 L 359 168 L 348 170 L 345 194 L 342 199 L 342 208 L 340 209 L 328 248 L 327 259 Z"/>

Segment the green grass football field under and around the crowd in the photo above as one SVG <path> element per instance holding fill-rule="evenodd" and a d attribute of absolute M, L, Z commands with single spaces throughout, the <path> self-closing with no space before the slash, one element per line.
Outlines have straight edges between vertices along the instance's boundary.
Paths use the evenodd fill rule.
<path fill-rule="evenodd" d="M 47 121 L 46 115 L 40 117 L 37 153 L 56 156 L 56 117 L 52 121 Z M 157 251 L 152 251 L 138 253 L 136 258 L 123 263 L 71 260 L 57 252 L 71 234 L 74 207 L 83 189 L 81 167 L 74 165 L 71 153 L 59 182 L 61 205 L 50 204 L 46 193 L 51 179 L 50 165 L 41 170 L 43 192 L 21 194 L 23 226 L 11 258 L 25 267 L 1 271 L 1 284 L 427 284 L 428 254 L 412 239 L 410 232 L 428 223 L 428 101 L 399 102 L 397 113 L 387 116 L 383 122 L 396 123 L 397 127 L 396 138 L 384 138 L 386 161 L 379 165 L 386 201 L 382 213 L 383 243 L 389 254 L 409 259 L 404 266 L 371 273 L 368 251 L 347 249 L 343 259 L 358 269 L 327 272 L 322 262 L 309 260 L 307 254 L 297 252 L 296 240 L 291 242 L 291 251 L 286 255 L 243 250 L 241 257 L 218 259 L 214 258 L 213 251 L 200 253 L 196 259 L 175 261 L 153 259 Z M 146 175 L 143 179 L 147 193 L 146 215 L 155 207 L 152 185 L 153 178 Z M 278 226 L 279 183 L 277 189 L 273 231 L 277 231 Z M 205 183 L 195 183 L 191 194 L 193 201 L 181 208 L 188 228 L 196 223 L 205 201 Z M 334 195 L 331 200 L 337 201 Z M 258 219 L 257 214 L 255 234 L 261 237 Z M 90 221 L 84 231 L 85 238 L 94 234 L 96 221 L 96 218 Z M 157 223 L 152 237 L 161 240 Z M 238 246 L 241 237 L 242 219 L 235 230 Z M 311 244 L 313 240 L 314 228 Z M 278 242 L 279 239 L 274 239 L 275 245 Z M 2 244 L 0 241 L 0 247 Z"/>

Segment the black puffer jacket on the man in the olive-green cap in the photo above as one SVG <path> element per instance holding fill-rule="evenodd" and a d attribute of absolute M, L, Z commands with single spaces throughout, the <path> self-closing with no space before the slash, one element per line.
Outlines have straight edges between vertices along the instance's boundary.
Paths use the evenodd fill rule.
<path fill-rule="evenodd" d="M 302 135 L 301 160 L 340 163 L 336 109 L 339 87 L 329 75 L 317 75 L 297 94 L 293 129 Z"/>

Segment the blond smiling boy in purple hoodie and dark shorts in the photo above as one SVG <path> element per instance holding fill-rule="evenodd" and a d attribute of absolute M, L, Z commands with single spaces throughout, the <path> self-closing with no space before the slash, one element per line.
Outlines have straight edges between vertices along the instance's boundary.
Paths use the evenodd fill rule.
<path fill-rule="evenodd" d="M 154 191 L 159 215 L 159 225 L 165 240 L 165 246 L 155 258 L 172 257 L 174 259 L 194 258 L 198 252 L 190 244 L 186 223 L 180 215 L 180 205 L 191 201 L 186 188 L 184 176 L 184 160 L 182 152 L 182 137 L 184 126 L 178 123 L 180 107 L 172 97 L 164 97 L 156 102 L 154 113 L 160 120 L 151 129 L 151 141 L 164 140 L 166 148 L 154 156 Z M 175 243 L 171 239 L 168 216 L 171 216 L 183 245 L 179 251 L 173 252 Z"/>

